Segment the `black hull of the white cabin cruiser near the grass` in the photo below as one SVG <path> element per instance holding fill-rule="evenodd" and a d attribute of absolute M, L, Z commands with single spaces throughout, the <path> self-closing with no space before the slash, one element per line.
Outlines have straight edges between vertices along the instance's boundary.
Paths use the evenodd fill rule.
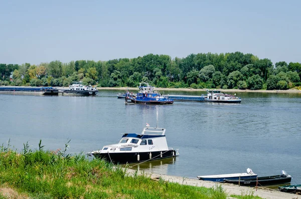
<path fill-rule="evenodd" d="M 134 162 L 143 162 L 147 160 L 157 160 L 163 159 L 168 157 L 175 157 L 176 151 L 175 150 L 167 150 L 162 151 L 152 151 L 152 159 L 149 157 L 150 152 L 113 152 L 113 153 L 92 153 L 96 158 L 102 158 L 107 161 L 112 161 L 114 164 L 126 164 L 126 163 L 134 163 Z M 139 160 L 138 160 L 139 154 Z"/>

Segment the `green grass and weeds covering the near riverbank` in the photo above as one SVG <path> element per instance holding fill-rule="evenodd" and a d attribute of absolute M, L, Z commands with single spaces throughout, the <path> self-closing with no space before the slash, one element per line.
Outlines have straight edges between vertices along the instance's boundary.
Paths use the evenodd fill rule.
<path fill-rule="evenodd" d="M 21 153 L 9 143 L 0 146 L 0 198 L 227 198 L 221 185 L 153 180 L 101 159 L 72 156 L 66 152 L 69 142 L 56 151 L 43 150 L 41 140 L 33 151 L 27 142 Z M 253 193 L 231 196 L 260 198 Z"/>

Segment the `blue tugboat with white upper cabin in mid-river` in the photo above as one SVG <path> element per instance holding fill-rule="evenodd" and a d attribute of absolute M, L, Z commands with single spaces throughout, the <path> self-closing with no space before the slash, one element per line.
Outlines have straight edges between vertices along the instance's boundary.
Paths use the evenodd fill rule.
<path fill-rule="evenodd" d="M 146 86 L 144 86 L 146 85 Z M 173 104 L 174 100 L 168 99 L 168 97 L 160 95 L 155 91 L 155 87 L 150 86 L 147 83 L 140 83 L 139 91 L 136 96 L 126 93 L 125 102 L 131 102 L 135 104 Z"/>

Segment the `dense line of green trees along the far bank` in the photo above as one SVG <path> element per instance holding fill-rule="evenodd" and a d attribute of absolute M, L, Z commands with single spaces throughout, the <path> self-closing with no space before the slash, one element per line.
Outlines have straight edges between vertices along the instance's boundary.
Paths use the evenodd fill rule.
<path fill-rule="evenodd" d="M 40 65 L 0 64 L 0 85 L 68 86 L 73 81 L 98 87 L 289 89 L 301 86 L 301 64 L 259 59 L 252 54 L 199 53 L 172 59 L 148 54 L 109 61 L 58 60 Z"/>

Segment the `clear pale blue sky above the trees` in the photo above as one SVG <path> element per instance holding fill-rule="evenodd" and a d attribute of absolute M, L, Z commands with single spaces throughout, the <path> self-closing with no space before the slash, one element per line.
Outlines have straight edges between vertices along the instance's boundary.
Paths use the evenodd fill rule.
<path fill-rule="evenodd" d="M 300 8 L 290 0 L 0 0 L 0 63 L 236 51 L 301 62 Z"/>

